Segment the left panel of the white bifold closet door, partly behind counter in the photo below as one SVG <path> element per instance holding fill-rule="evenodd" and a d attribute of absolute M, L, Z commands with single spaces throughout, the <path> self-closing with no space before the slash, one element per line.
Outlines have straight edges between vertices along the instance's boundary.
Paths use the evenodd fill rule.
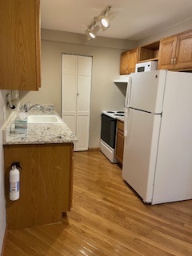
<path fill-rule="evenodd" d="M 62 54 L 62 119 L 76 134 L 78 57 Z"/>

